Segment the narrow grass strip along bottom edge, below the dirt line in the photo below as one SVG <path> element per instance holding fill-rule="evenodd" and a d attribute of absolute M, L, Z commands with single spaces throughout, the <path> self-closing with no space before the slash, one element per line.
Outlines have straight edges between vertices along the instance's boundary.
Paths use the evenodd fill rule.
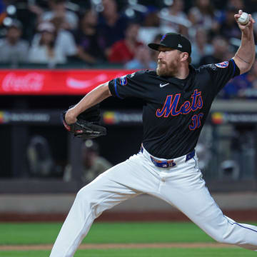
<path fill-rule="evenodd" d="M 48 257 L 50 251 L 2 251 L 1 257 Z M 256 252 L 241 248 L 201 248 L 201 249 L 109 249 L 79 250 L 74 257 L 251 257 Z"/>

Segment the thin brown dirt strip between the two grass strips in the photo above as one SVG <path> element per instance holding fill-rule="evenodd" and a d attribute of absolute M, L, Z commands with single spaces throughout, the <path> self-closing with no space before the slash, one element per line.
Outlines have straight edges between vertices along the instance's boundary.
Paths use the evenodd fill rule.
<path fill-rule="evenodd" d="M 79 249 L 128 249 L 128 248 L 235 248 L 223 243 L 88 243 Z M 0 251 L 51 250 L 52 245 L 0 246 Z"/>

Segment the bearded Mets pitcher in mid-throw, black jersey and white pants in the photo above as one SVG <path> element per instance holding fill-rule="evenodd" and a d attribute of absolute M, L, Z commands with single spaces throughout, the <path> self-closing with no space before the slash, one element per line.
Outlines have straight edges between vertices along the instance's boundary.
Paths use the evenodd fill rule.
<path fill-rule="evenodd" d="M 194 69 L 190 41 L 168 33 L 160 44 L 148 44 L 158 51 L 156 71 L 138 71 L 101 84 L 64 114 L 64 125 L 74 135 L 101 136 L 106 131 L 94 123 L 95 118 L 84 122 L 84 112 L 109 96 L 136 97 L 143 103 L 143 141 L 137 154 L 77 193 L 51 257 L 74 256 L 95 218 L 141 193 L 176 206 L 216 241 L 257 251 L 257 227 L 223 215 L 206 188 L 194 150 L 218 91 L 234 76 L 249 71 L 255 59 L 255 21 L 249 15 L 248 24 L 241 25 L 241 14 L 235 15 L 241 46 L 231 60 Z"/>

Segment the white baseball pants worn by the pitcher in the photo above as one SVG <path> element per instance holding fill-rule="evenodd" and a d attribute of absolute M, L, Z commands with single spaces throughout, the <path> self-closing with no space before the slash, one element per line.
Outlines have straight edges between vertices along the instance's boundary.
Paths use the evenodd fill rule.
<path fill-rule="evenodd" d="M 176 206 L 216 241 L 257 251 L 257 227 L 236 223 L 223 215 L 202 179 L 197 156 L 188 161 L 181 156 L 174 162 L 172 168 L 158 168 L 143 149 L 143 153 L 131 156 L 81 188 L 50 257 L 74 256 L 95 218 L 141 193 Z"/>

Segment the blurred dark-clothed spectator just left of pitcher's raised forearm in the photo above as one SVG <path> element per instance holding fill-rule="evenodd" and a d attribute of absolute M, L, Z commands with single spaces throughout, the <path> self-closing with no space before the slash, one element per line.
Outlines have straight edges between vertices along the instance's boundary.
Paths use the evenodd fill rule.
<path fill-rule="evenodd" d="M 226 41 L 226 39 L 224 39 L 222 36 L 216 36 L 212 40 L 213 54 L 203 56 L 199 65 L 218 64 L 222 61 L 228 61 L 228 59 L 232 57 L 230 56 L 228 46 L 228 41 Z"/>

